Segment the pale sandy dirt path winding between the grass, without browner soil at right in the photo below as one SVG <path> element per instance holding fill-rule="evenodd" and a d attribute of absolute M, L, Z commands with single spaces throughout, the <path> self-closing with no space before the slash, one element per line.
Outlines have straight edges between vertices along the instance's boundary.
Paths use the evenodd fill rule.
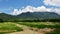
<path fill-rule="evenodd" d="M 14 24 L 19 26 L 19 27 L 22 27 L 23 31 L 14 32 L 14 33 L 10 33 L 10 34 L 45 34 L 45 33 L 41 33 L 41 32 L 30 30 L 29 27 L 25 26 L 25 25 L 20 25 L 20 24 L 16 24 L 16 23 L 14 23 Z"/>

